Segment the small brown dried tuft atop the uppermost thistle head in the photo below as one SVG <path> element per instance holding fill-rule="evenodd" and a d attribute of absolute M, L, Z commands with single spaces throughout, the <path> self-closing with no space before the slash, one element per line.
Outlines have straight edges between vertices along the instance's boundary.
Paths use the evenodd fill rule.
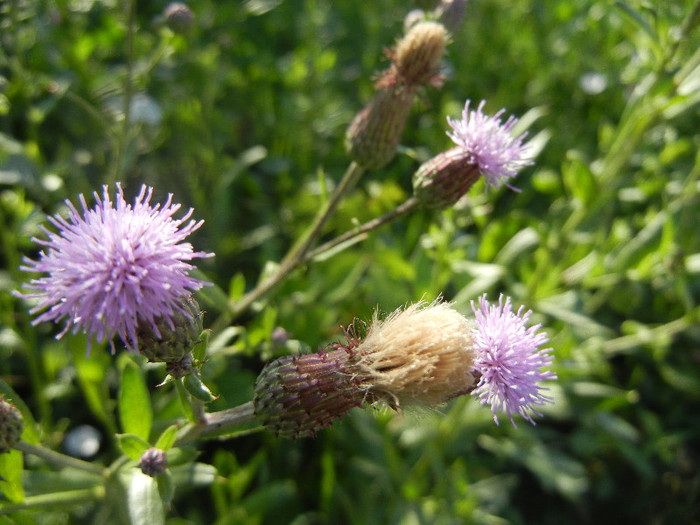
<path fill-rule="evenodd" d="M 447 30 L 438 22 L 419 22 L 396 45 L 394 65 L 407 85 L 427 84 L 440 69 Z"/>

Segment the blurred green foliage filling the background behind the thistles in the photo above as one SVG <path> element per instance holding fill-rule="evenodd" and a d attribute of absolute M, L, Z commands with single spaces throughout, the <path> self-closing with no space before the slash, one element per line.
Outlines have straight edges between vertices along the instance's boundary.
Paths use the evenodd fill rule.
<path fill-rule="evenodd" d="M 198 466 L 176 477 L 168 523 L 700 521 L 694 0 L 471 0 L 444 87 L 421 94 L 399 155 L 364 175 L 328 235 L 410 196 L 413 171 L 448 147 L 445 117 L 467 98 L 524 115 L 543 146 L 515 182 L 522 191 L 479 183 L 453 209 L 385 226 L 294 273 L 235 326 L 221 317 L 226 296 L 279 261 L 340 179 L 345 129 L 415 5 L 201 0 L 184 33 L 164 24 L 165 7 L 0 4 L 0 375 L 37 439 L 60 449 L 88 424 L 101 435 L 89 459 L 114 461 L 120 371 L 133 360 L 100 348 L 85 358 L 84 340 L 32 328 L 11 295 L 28 279 L 21 257 L 36 254 L 30 238 L 64 199 L 147 183 L 154 201 L 172 192 L 195 208 L 206 222 L 193 244 L 216 253 L 199 265 L 217 285 L 200 295 L 215 329 L 203 368 L 214 408 L 248 401 L 271 357 L 336 340 L 375 308 L 440 294 L 465 313 L 483 292 L 533 309 L 559 375 L 536 427 L 497 427 L 458 399 L 440 413 L 358 410 L 315 439 L 201 443 L 190 450 Z M 276 327 L 291 339 L 272 338 Z M 155 389 L 162 368 L 136 362 L 157 436 L 181 417 L 177 396 Z M 82 486 L 25 465 L 23 493 L 2 471 L 8 504 Z M 105 523 L 116 505 L 0 520 Z"/>

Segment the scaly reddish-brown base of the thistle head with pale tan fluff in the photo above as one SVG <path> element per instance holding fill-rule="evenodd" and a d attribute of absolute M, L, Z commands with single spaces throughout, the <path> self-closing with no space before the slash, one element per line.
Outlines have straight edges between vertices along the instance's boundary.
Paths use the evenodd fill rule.
<path fill-rule="evenodd" d="M 347 360 L 342 349 L 275 359 L 255 382 L 255 415 L 278 436 L 314 436 L 363 402 Z"/>

